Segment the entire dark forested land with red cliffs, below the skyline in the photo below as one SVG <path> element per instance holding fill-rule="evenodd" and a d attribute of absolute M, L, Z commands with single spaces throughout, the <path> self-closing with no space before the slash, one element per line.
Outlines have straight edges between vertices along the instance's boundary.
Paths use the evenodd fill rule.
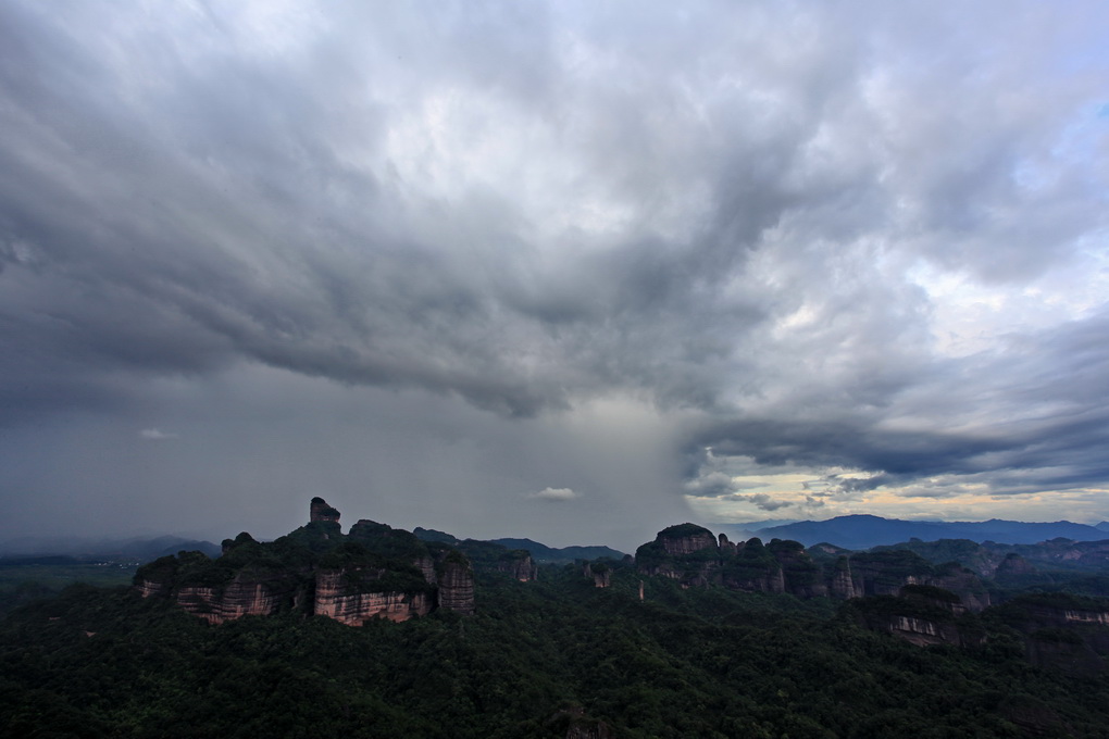
<path fill-rule="evenodd" d="M 858 552 L 682 523 L 540 575 L 528 547 L 614 550 L 339 521 L 314 497 L 274 541 L 11 609 L 0 736 L 1100 739 L 1109 721 L 1109 541 Z"/>

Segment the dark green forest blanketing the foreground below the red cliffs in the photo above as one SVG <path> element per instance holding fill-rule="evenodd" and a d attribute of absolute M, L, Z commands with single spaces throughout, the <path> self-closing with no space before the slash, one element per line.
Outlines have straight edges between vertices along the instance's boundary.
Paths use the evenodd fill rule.
<path fill-rule="evenodd" d="M 603 722 L 613 737 L 796 739 L 1105 737 L 1109 726 L 1105 673 L 1025 658 L 1017 627 L 1052 595 L 983 614 L 980 647 L 920 648 L 861 626 L 884 601 L 648 577 L 640 602 L 641 577 L 608 566 L 603 589 L 580 566 L 531 583 L 479 575 L 476 616 L 363 628 L 299 613 L 211 626 L 130 588 L 72 586 L 0 626 L 0 731 L 530 738 Z M 1067 647 L 1065 633 L 1041 630 Z"/>

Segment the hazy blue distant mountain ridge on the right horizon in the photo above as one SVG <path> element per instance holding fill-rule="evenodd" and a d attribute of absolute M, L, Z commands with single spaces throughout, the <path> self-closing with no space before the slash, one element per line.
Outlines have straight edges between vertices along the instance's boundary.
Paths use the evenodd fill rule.
<path fill-rule="evenodd" d="M 827 521 L 800 521 L 781 526 L 753 530 L 762 538 L 787 538 L 805 546 L 828 543 L 848 550 L 868 550 L 919 538 L 926 542 L 940 538 L 966 538 L 973 542 L 1000 544 L 1035 544 L 1064 537 L 1076 542 L 1097 542 L 1109 538 L 1103 524 L 1089 526 L 1070 521 L 1026 523 L 1021 521 L 903 521 L 874 515 L 836 516 Z"/>

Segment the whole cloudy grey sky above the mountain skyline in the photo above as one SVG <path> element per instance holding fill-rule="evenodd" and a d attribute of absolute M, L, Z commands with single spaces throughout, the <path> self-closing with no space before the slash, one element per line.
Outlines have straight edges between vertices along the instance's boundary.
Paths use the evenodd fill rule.
<path fill-rule="evenodd" d="M 1109 519 L 1109 4 L 0 3 L 0 542 Z"/>

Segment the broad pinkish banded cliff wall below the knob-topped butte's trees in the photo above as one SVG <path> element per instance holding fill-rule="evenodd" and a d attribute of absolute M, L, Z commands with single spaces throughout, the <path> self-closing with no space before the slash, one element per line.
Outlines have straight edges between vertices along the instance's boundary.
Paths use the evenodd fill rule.
<path fill-rule="evenodd" d="M 385 571 L 317 572 L 313 613 L 347 626 L 362 626 L 372 618 L 403 622 L 431 613 L 431 596 L 428 592 L 376 591 L 362 585 L 363 578 L 380 579 L 386 574 Z"/>

